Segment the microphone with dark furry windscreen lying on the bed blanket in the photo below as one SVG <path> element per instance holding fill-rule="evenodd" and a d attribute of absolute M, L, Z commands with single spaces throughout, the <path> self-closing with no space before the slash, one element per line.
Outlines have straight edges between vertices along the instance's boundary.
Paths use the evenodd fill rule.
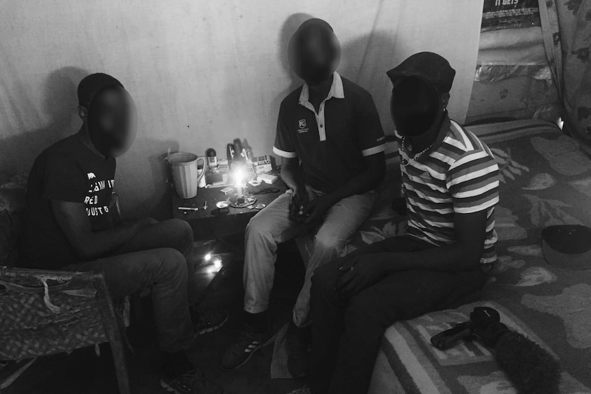
<path fill-rule="evenodd" d="M 500 369 L 520 394 L 559 393 L 560 365 L 551 354 L 526 336 L 509 330 L 494 308 L 477 306 L 470 321 L 433 336 L 437 349 L 449 349 L 463 338 L 477 338 L 494 349 Z"/>

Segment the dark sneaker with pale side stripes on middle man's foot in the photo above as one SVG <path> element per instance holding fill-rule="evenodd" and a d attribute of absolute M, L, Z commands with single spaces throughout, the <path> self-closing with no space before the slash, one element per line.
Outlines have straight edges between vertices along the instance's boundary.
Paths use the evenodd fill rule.
<path fill-rule="evenodd" d="M 275 339 L 275 331 L 256 332 L 253 328 L 245 325 L 234 345 L 228 347 L 224 357 L 221 359 L 221 370 L 231 371 L 245 365 L 254 352 L 270 345 Z"/>

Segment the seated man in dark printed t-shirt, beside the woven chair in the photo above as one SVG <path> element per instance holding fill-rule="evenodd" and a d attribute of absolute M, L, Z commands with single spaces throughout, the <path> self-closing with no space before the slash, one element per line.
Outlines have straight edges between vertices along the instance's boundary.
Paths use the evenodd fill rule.
<path fill-rule="evenodd" d="M 112 225 L 115 157 L 134 140 L 134 102 L 106 74 L 82 79 L 78 99 L 80 132 L 45 149 L 29 175 L 26 264 L 104 273 L 113 297 L 151 288 L 164 360 L 160 383 L 176 393 L 211 386 L 191 372 L 184 352 L 195 335 L 219 327 L 227 315 L 195 310 L 195 271 L 188 258 L 191 227 L 174 219 Z"/>

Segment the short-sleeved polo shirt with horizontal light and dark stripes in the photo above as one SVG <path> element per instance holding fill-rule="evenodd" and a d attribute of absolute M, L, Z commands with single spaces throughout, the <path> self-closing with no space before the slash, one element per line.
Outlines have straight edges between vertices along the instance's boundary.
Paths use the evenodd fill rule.
<path fill-rule="evenodd" d="M 434 245 L 449 245 L 455 242 L 454 214 L 487 210 L 481 262 L 494 262 L 498 166 L 490 149 L 477 136 L 447 116 L 442 127 L 448 130 L 443 140 L 418 160 L 409 157 L 402 138 L 396 134 L 409 213 L 408 234 Z"/>

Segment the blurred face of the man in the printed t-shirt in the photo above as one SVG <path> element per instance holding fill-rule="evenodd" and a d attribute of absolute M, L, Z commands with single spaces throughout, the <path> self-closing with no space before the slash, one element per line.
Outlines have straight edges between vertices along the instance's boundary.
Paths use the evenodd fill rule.
<path fill-rule="evenodd" d="M 101 90 L 88 108 L 88 133 L 95 148 L 107 157 L 130 149 L 137 132 L 137 113 L 130 94 L 121 87 Z"/>

